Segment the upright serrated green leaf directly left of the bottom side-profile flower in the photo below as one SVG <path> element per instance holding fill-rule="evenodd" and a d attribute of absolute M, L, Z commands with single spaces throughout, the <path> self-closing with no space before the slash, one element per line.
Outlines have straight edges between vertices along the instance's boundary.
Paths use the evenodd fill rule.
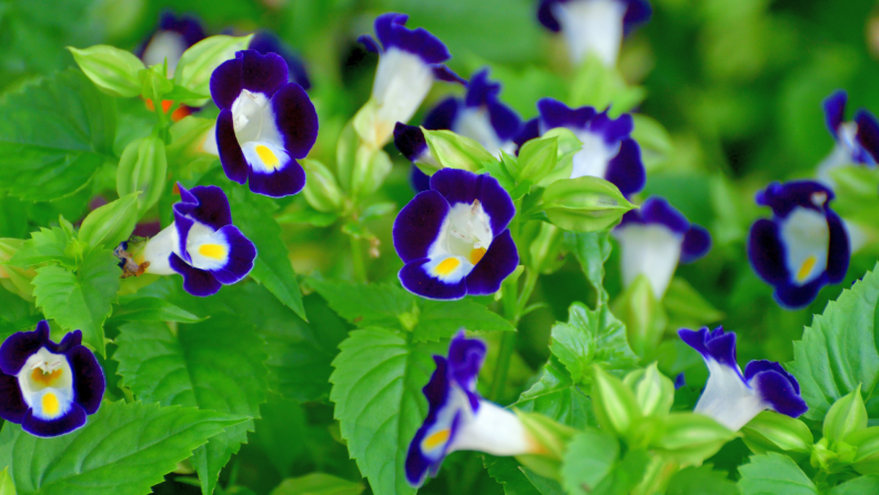
<path fill-rule="evenodd" d="M 436 350 L 384 329 L 354 331 L 340 348 L 330 400 L 351 456 L 376 495 L 415 493 L 404 462 L 427 415 L 422 387 L 434 371 Z"/>

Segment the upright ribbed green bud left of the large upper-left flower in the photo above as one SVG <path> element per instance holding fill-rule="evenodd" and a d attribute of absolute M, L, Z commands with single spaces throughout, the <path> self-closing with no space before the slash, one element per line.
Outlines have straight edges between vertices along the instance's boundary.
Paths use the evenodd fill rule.
<path fill-rule="evenodd" d="M 125 147 L 117 170 L 119 196 L 137 193 L 137 216 L 159 202 L 168 181 L 164 142 L 156 137 L 137 139 Z"/>

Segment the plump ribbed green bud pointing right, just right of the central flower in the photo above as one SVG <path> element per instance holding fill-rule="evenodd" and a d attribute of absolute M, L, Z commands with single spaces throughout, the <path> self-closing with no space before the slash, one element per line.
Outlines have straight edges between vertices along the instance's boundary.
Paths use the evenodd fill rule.
<path fill-rule="evenodd" d="M 544 191 L 543 201 L 550 222 L 575 232 L 607 229 L 635 209 L 616 185 L 594 176 L 553 182 Z"/>

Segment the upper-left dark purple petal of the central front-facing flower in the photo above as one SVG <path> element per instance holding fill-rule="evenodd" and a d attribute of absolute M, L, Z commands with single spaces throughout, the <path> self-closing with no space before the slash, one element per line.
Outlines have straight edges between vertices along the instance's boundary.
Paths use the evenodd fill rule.
<path fill-rule="evenodd" d="M 403 263 L 427 256 L 448 214 L 448 202 L 436 191 L 418 193 L 394 220 L 394 249 Z"/>

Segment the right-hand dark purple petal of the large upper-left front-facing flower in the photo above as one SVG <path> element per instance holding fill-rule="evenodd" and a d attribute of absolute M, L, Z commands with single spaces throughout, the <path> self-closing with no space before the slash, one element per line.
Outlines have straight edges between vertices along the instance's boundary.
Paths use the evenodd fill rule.
<path fill-rule="evenodd" d="M 296 83 L 284 84 L 272 97 L 272 110 L 287 153 L 305 158 L 317 140 L 317 111 L 309 94 Z"/>

